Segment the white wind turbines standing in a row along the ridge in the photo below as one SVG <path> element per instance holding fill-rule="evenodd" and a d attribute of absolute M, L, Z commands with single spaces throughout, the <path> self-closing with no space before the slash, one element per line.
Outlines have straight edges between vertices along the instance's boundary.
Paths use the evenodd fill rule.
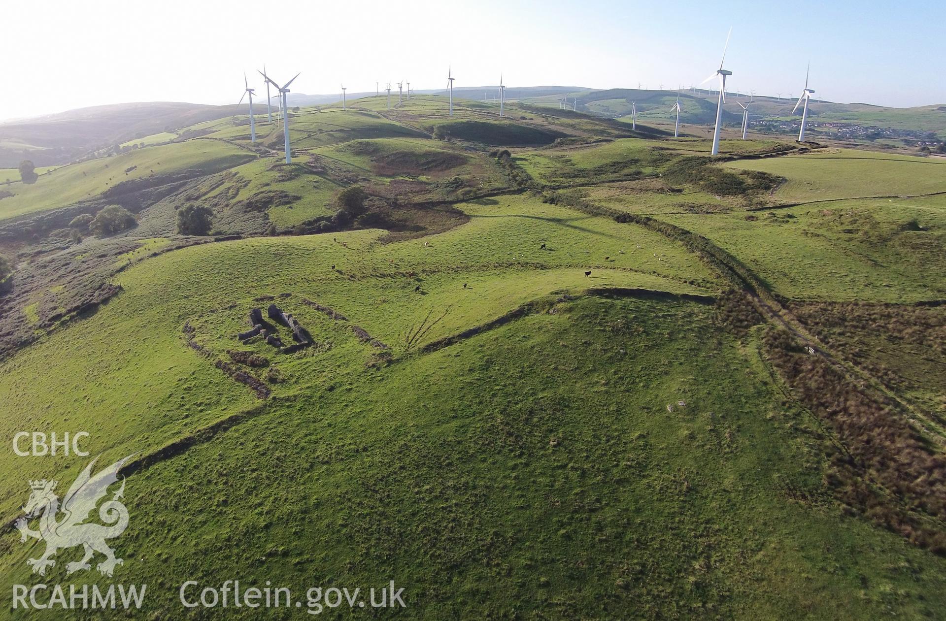
<path fill-rule="evenodd" d="M 709 82 L 713 78 L 719 79 L 719 100 L 716 105 L 716 125 L 715 125 L 715 129 L 713 129 L 713 136 L 712 136 L 712 149 L 711 149 L 712 155 L 719 154 L 719 140 L 720 140 L 720 133 L 722 131 L 722 126 L 723 126 L 723 123 L 722 123 L 723 104 L 726 103 L 726 78 L 732 75 L 731 71 L 723 68 L 723 65 L 726 63 L 726 52 L 727 52 L 727 49 L 729 48 L 729 39 L 731 36 L 732 36 L 732 28 L 730 27 L 729 32 L 726 37 L 726 44 L 723 46 L 723 59 L 720 60 L 719 68 L 715 72 L 713 72 L 709 78 L 706 78 L 702 82 L 700 82 L 700 84 L 705 84 L 706 82 Z M 795 104 L 795 108 L 792 109 L 792 113 L 794 114 L 795 112 L 797 112 L 798 106 L 802 106 L 802 105 L 804 106 L 801 113 L 801 129 L 798 131 L 798 142 L 804 142 L 805 140 L 805 124 L 808 121 L 808 102 L 811 100 L 812 95 L 815 94 L 814 89 L 808 88 L 808 78 L 809 78 L 810 70 L 811 70 L 811 63 L 809 63 L 808 70 L 806 70 L 805 72 L 805 88 L 802 90 L 801 96 L 798 97 L 798 101 Z M 266 74 L 265 66 L 263 67 L 263 70 L 259 72 L 259 74 L 266 80 L 266 103 L 267 103 L 266 114 L 267 114 L 267 119 L 270 123 L 272 123 L 272 99 L 270 95 L 270 86 L 272 85 L 273 87 L 275 87 L 278 93 L 279 113 L 282 115 L 282 119 L 283 119 L 283 138 L 285 141 L 285 148 L 286 148 L 286 164 L 289 164 L 292 161 L 292 159 L 291 159 L 291 153 L 289 151 L 289 113 L 288 113 L 289 102 L 286 95 L 289 94 L 289 84 L 291 84 L 292 81 L 295 80 L 295 78 L 298 78 L 300 74 L 296 74 L 295 76 L 293 76 L 292 79 L 290 79 L 288 82 L 286 82 L 282 86 L 280 86 L 277 82 L 273 81 L 272 78 L 270 78 Z M 447 96 L 448 96 L 447 110 L 448 110 L 449 116 L 453 116 L 453 80 L 455 79 L 456 78 L 453 77 L 453 65 L 451 64 L 447 67 Z M 240 97 L 239 103 L 237 103 L 236 105 L 239 106 L 239 104 L 243 103 L 243 98 L 246 97 L 246 95 L 250 95 L 250 140 L 252 142 L 256 142 L 256 125 L 255 125 L 255 117 L 253 113 L 254 89 L 250 88 L 250 84 L 246 78 L 246 73 L 243 74 L 243 85 L 244 85 L 243 96 Z M 348 106 L 347 106 L 347 100 L 345 97 L 345 92 L 348 89 L 345 88 L 344 83 L 342 83 L 341 86 L 342 86 L 342 110 L 347 110 Z M 408 86 L 407 98 L 410 101 L 411 100 L 411 82 L 407 82 L 407 86 Z M 376 95 L 380 95 L 380 89 L 378 87 L 379 87 L 379 83 L 375 82 Z M 397 105 L 398 106 L 400 106 L 404 100 L 403 87 L 404 87 L 404 81 L 397 82 Z M 638 84 L 638 88 L 639 87 L 640 87 L 640 84 Z M 384 90 L 387 93 L 388 110 L 391 110 L 391 90 L 392 89 L 391 89 L 390 82 L 387 84 L 387 87 Z M 677 90 L 676 101 L 674 102 L 674 106 L 670 109 L 671 112 L 676 112 L 676 119 L 674 121 L 674 138 L 678 138 L 680 135 L 680 111 L 682 110 L 682 106 L 680 104 L 680 91 L 681 90 L 682 89 Z M 506 87 L 502 83 L 502 75 L 500 74 L 499 75 L 499 116 L 503 116 L 505 102 L 506 102 Z M 638 105 L 636 101 L 631 101 L 630 103 L 631 103 L 631 129 L 634 130 L 634 129 L 637 129 Z M 746 132 L 748 131 L 748 125 L 749 125 L 749 105 L 752 103 L 752 99 L 750 97 L 749 101 L 745 104 L 739 101 L 737 101 L 736 103 L 739 104 L 739 106 L 743 109 L 743 122 L 742 122 L 741 129 L 743 132 L 743 140 L 745 140 L 745 135 L 746 135 Z M 565 95 L 562 97 L 562 110 L 567 110 L 567 107 L 568 107 L 568 95 Z M 577 107 L 578 107 L 578 101 L 577 99 L 575 99 L 572 102 L 572 110 L 577 110 Z"/>

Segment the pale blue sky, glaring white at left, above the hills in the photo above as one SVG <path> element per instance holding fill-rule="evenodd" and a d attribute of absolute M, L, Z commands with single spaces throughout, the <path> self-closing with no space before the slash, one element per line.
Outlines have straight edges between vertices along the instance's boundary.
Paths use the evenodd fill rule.
<path fill-rule="evenodd" d="M 281 19 L 280 8 L 287 9 Z M 480 0 L 290 3 L 50 0 L 9 3 L 0 118 L 124 101 L 236 102 L 265 62 L 293 90 L 456 85 L 674 88 L 719 66 L 732 90 L 946 104 L 946 1 Z M 282 36 L 280 36 L 282 34 Z M 28 92 L 25 85 L 29 85 Z"/>

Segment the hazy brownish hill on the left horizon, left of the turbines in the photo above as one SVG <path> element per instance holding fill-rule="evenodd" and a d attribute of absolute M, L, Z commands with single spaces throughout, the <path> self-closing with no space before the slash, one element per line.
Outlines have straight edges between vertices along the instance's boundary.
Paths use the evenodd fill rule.
<path fill-rule="evenodd" d="M 266 104 L 257 110 L 265 112 Z M 154 101 L 0 123 L 0 168 L 16 167 L 26 158 L 37 166 L 65 164 L 89 151 L 248 111 L 245 103 L 237 108 Z"/>

